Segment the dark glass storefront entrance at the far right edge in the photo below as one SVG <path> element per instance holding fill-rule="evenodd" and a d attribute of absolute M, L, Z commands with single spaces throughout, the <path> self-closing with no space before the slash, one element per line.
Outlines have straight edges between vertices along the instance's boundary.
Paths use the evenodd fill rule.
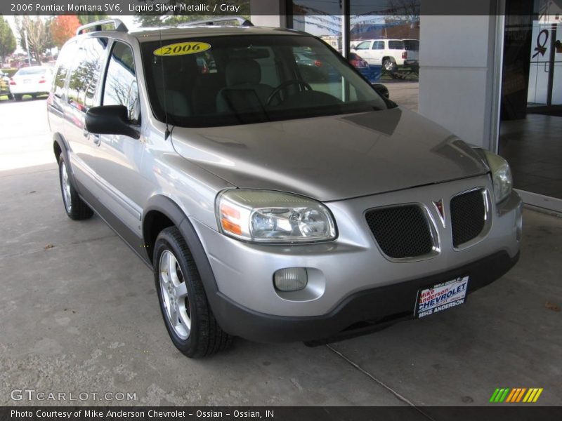
<path fill-rule="evenodd" d="M 526 202 L 562 199 L 562 23 L 551 0 L 507 0 L 499 154 Z"/>

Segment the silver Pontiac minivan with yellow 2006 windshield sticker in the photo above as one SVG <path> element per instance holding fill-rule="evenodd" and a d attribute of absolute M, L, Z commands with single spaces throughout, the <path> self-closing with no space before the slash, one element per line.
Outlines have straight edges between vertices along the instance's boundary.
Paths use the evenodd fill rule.
<path fill-rule="evenodd" d="M 315 36 L 95 22 L 64 46 L 47 102 L 67 215 L 95 212 L 154 269 L 187 356 L 430 316 L 518 259 L 507 162 L 379 95 Z"/>

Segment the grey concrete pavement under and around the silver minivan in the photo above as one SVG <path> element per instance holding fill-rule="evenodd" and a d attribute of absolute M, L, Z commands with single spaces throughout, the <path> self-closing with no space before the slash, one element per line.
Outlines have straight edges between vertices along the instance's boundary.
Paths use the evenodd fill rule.
<path fill-rule="evenodd" d="M 237 340 L 189 360 L 150 270 L 100 218 L 65 215 L 44 99 L 1 101 L 0 133 L 0 405 L 64 403 L 11 398 L 34 389 L 98 393 L 72 405 L 481 406 L 497 387 L 562 405 L 562 218 L 525 210 L 520 262 L 461 307 L 329 346 Z"/>

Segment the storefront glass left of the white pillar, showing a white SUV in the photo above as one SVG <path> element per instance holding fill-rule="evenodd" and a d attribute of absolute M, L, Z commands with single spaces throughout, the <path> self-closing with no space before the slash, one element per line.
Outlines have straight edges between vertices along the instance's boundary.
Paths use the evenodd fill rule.
<path fill-rule="evenodd" d="M 417 111 L 420 1 L 293 0 L 289 26 L 320 36 L 340 53 L 348 39 L 351 65 L 371 83 L 386 84 L 392 100 Z M 344 10 L 350 15 L 347 36 Z"/>

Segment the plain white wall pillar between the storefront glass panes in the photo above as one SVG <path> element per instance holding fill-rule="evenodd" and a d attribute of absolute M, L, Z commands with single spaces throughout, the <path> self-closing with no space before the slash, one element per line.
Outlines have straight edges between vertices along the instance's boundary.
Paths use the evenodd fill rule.
<path fill-rule="evenodd" d="M 420 19 L 419 113 L 489 149 L 497 142 L 496 26 L 487 15 Z"/>

